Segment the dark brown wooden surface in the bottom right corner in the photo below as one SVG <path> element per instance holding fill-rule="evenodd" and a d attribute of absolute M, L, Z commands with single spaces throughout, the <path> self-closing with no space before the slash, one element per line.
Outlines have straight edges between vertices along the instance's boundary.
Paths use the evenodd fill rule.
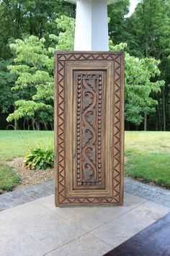
<path fill-rule="evenodd" d="M 113 231 L 114 232 L 114 231 Z M 169 256 L 170 213 L 128 239 L 105 256 Z"/>

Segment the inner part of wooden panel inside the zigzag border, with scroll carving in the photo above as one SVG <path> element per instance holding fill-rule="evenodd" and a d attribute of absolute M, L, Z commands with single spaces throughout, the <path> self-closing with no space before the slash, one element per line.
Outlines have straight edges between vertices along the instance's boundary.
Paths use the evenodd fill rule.
<path fill-rule="evenodd" d="M 96 65 L 66 65 L 68 197 L 112 195 L 112 63 Z"/>

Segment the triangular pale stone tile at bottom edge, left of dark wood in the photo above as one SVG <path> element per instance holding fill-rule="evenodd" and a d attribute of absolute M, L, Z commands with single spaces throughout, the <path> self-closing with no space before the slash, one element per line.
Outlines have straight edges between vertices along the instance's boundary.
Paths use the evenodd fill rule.
<path fill-rule="evenodd" d="M 97 239 L 91 234 L 85 234 L 78 239 L 70 242 L 63 247 L 53 250 L 53 252 L 48 253 L 48 256 L 101 256 L 104 253 L 109 252 L 112 249 L 107 243 L 102 242 L 102 240 Z"/>

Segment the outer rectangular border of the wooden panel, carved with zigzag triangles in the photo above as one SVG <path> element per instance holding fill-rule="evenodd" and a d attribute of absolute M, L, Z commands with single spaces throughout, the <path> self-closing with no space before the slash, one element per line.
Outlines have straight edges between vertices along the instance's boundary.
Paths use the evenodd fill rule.
<path fill-rule="evenodd" d="M 117 53 L 81 53 L 58 52 L 56 53 L 55 74 L 55 205 L 121 205 L 123 201 L 123 148 L 124 148 L 124 119 L 123 119 L 123 83 L 124 83 L 124 54 Z M 114 138 L 113 138 L 113 195 L 112 197 L 66 197 L 65 180 L 65 61 L 114 61 Z"/>

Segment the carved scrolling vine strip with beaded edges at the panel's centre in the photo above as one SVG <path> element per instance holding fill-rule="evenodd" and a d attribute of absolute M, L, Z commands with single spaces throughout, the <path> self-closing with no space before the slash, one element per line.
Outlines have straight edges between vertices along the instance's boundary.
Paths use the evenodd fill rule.
<path fill-rule="evenodd" d="M 101 185 L 103 75 L 78 72 L 76 80 L 77 185 Z"/>

